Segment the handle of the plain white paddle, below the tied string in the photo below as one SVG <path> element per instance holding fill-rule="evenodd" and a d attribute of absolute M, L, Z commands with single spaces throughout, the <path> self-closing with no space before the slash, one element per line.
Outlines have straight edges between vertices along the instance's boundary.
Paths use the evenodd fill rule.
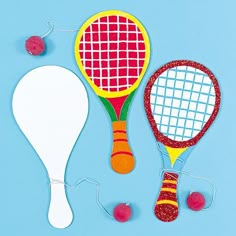
<path fill-rule="evenodd" d="M 58 229 L 68 227 L 73 219 L 70 205 L 66 198 L 65 187 L 62 184 L 51 184 L 51 201 L 48 212 L 50 224 Z"/>

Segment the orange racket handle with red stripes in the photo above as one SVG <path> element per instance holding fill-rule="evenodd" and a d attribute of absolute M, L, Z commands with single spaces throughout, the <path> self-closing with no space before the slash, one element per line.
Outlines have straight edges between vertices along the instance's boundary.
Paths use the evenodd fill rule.
<path fill-rule="evenodd" d="M 128 174 L 134 169 L 135 159 L 128 144 L 126 121 L 115 121 L 113 127 L 112 169 L 119 174 Z"/>

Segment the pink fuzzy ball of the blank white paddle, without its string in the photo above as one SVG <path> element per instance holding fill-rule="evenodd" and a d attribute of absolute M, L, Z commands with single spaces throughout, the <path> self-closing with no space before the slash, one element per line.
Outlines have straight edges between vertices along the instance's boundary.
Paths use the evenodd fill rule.
<path fill-rule="evenodd" d="M 132 215 L 132 209 L 128 204 L 120 203 L 113 211 L 114 218 L 119 222 L 127 222 Z"/>

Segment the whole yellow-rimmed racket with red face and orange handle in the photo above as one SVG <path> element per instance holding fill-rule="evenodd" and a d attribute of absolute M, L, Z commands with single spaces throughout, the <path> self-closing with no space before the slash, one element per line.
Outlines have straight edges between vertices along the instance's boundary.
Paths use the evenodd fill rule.
<path fill-rule="evenodd" d="M 135 166 L 126 118 L 149 56 L 144 27 L 122 11 L 92 16 L 81 27 L 75 42 L 77 64 L 110 115 L 114 137 L 111 166 L 120 174 L 131 172 Z"/>

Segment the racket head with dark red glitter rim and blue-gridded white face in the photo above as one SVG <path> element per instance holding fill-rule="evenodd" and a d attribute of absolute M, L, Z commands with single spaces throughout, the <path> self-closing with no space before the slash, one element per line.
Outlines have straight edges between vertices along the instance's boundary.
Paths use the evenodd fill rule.
<path fill-rule="evenodd" d="M 171 78 L 170 79 L 170 75 L 168 73 L 170 73 L 171 71 Z M 178 74 L 178 72 L 181 72 L 182 74 Z M 198 75 L 198 76 L 196 76 Z M 168 77 L 169 76 L 169 77 Z M 180 77 L 179 77 L 180 76 Z M 184 78 L 183 78 L 184 77 Z M 202 77 L 202 78 L 201 78 Z M 180 79 L 181 78 L 181 79 Z M 177 128 L 179 128 L 179 120 L 184 120 L 184 125 L 183 126 L 183 136 L 182 136 L 182 140 L 181 136 L 176 138 L 176 136 L 173 138 L 173 135 L 170 135 L 170 133 L 164 133 L 163 131 L 161 131 L 160 129 L 161 126 L 163 125 L 161 122 L 159 121 L 159 118 L 157 118 L 157 116 L 159 114 L 161 114 L 160 116 L 163 117 L 162 112 L 158 112 L 155 113 L 154 109 L 156 109 L 156 106 L 158 106 L 158 102 L 160 101 L 160 106 L 162 106 L 162 111 L 164 111 L 165 108 L 165 104 L 166 103 L 166 99 L 168 98 L 166 96 L 167 93 L 167 89 L 169 89 L 169 87 L 166 85 L 165 86 L 159 86 L 157 85 L 157 81 L 159 79 L 163 79 L 162 82 L 165 81 L 166 85 L 168 83 L 168 79 L 170 79 L 170 81 L 173 81 L 174 86 L 176 86 L 177 82 L 175 81 L 181 81 L 182 80 L 182 87 L 180 86 L 178 89 L 176 87 L 173 87 L 173 85 L 171 86 L 171 89 L 173 90 L 173 94 L 172 96 L 170 96 L 171 100 L 171 104 L 169 105 L 170 108 L 170 114 L 169 116 L 167 116 L 169 118 L 169 124 L 171 122 L 171 119 L 173 118 L 172 116 L 172 112 L 175 108 L 175 113 L 176 110 L 178 111 L 178 114 L 176 115 L 176 126 L 174 126 L 173 128 L 177 130 Z M 189 80 L 189 81 L 188 81 Z M 206 82 L 206 84 L 205 84 Z M 155 88 L 155 83 L 156 83 L 156 88 Z M 186 89 L 187 87 L 187 83 L 188 87 L 191 84 L 191 89 Z M 200 86 L 200 90 L 198 92 L 196 92 L 195 87 L 196 88 Z M 207 89 L 207 87 L 209 87 Z M 154 93 L 153 89 L 156 89 L 156 92 Z M 162 92 L 164 92 L 163 96 L 160 96 L 160 89 L 164 89 Z M 180 91 L 181 94 L 187 94 L 184 92 L 190 92 L 190 98 L 189 99 L 185 99 L 182 98 L 181 96 L 177 96 L 176 91 Z M 204 91 L 204 92 L 203 92 Z M 193 95 L 198 94 L 198 100 L 193 100 Z M 200 99 L 201 96 L 203 97 L 204 95 L 206 95 L 206 100 L 204 101 L 204 99 Z M 156 137 L 156 140 L 160 143 L 163 143 L 164 145 L 168 146 L 168 147 L 172 147 L 172 148 L 186 148 L 186 147 L 190 147 L 195 145 L 201 138 L 202 136 L 205 134 L 205 132 L 208 130 L 208 128 L 211 126 L 211 124 L 213 123 L 213 121 L 215 120 L 219 108 L 220 108 L 220 88 L 219 88 L 219 84 L 214 76 L 214 74 L 208 69 L 206 68 L 204 65 L 194 62 L 194 61 L 189 61 L 189 60 L 177 60 L 177 61 L 172 61 L 167 63 L 166 65 L 162 66 L 160 69 L 158 69 L 150 78 L 150 80 L 147 83 L 147 86 L 145 88 L 145 94 L 144 94 L 144 106 L 145 106 L 145 110 L 146 110 L 146 114 L 149 120 L 149 123 L 151 125 L 151 128 L 153 130 L 153 133 Z M 155 101 L 153 101 L 153 98 L 155 98 Z M 159 99 L 159 100 L 158 100 Z M 177 106 L 174 106 L 174 100 L 177 99 L 179 100 L 179 107 L 178 104 Z M 196 99 L 196 98 L 194 98 Z M 186 109 L 186 104 L 185 104 L 185 108 L 182 109 L 182 103 L 183 100 L 185 100 L 185 102 L 187 102 L 187 106 L 188 108 Z M 196 108 L 195 110 L 191 110 L 191 104 L 196 103 Z M 201 105 L 199 105 L 201 104 Z M 204 112 L 200 112 L 200 110 L 202 111 L 205 108 Z M 208 108 L 209 111 L 208 112 Z M 180 111 L 185 110 L 186 111 L 186 115 L 183 117 L 180 117 Z M 161 110 L 160 110 L 161 111 Z M 194 115 L 194 118 L 189 119 L 190 116 L 190 112 L 191 112 L 191 117 L 192 115 Z M 200 117 L 201 114 L 205 113 L 205 116 L 202 120 L 202 124 L 200 127 L 200 123 L 197 122 L 201 122 L 200 120 L 197 120 L 196 117 Z M 192 120 L 192 128 L 190 128 L 189 130 L 191 130 L 191 135 L 189 135 L 189 137 L 184 137 L 185 136 L 185 129 L 188 129 L 185 127 L 185 125 L 187 125 L 187 122 L 191 123 L 190 121 Z M 164 121 L 163 121 L 164 122 Z M 168 125 L 169 125 L 168 124 Z M 195 129 L 195 124 L 198 124 L 198 129 Z M 197 125 L 196 125 L 197 126 Z M 169 128 L 170 126 L 168 126 L 168 131 L 170 130 Z M 199 128 L 200 127 L 200 128 Z M 175 135 L 176 135 L 176 132 Z M 171 138 L 170 138 L 171 137 Z"/>

